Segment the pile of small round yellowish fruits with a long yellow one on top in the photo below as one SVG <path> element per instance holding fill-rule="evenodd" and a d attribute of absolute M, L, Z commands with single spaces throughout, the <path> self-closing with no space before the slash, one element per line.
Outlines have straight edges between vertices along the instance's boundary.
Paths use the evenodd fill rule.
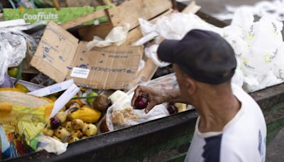
<path fill-rule="evenodd" d="M 96 124 L 109 103 L 107 96 L 97 95 L 96 92 L 89 92 L 87 104 L 83 104 L 80 99 L 72 99 L 55 117 L 50 118 L 43 134 L 68 143 L 94 136 L 98 133 Z"/>

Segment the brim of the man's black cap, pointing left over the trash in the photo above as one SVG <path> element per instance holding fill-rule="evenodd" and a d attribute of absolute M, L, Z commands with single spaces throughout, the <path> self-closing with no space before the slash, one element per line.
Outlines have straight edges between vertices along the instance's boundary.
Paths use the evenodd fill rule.
<path fill-rule="evenodd" d="M 174 50 L 179 41 L 177 40 L 164 40 L 158 47 L 158 58 L 167 63 L 175 62 Z"/>

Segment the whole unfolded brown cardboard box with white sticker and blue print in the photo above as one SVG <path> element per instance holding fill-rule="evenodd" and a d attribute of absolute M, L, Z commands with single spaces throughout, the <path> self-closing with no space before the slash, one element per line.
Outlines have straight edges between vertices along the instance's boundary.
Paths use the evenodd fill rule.
<path fill-rule="evenodd" d="M 56 82 L 74 79 L 77 85 L 94 89 L 124 89 L 136 77 L 143 46 L 110 46 L 87 51 L 86 44 L 50 21 L 31 65 Z"/>

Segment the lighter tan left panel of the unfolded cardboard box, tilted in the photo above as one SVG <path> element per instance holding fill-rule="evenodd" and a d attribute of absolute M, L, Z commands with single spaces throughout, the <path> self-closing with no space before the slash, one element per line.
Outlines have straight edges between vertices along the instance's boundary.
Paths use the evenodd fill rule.
<path fill-rule="evenodd" d="M 53 21 L 48 23 L 31 65 L 56 82 L 62 82 L 70 71 L 79 40 Z"/>

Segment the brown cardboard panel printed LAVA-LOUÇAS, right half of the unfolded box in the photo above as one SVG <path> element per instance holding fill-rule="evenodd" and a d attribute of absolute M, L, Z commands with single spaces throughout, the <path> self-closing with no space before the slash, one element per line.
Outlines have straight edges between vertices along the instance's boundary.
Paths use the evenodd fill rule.
<path fill-rule="evenodd" d="M 74 67 L 89 69 L 87 79 L 70 77 L 77 85 L 97 89 L 122 89 L 136 76 L 143 46 L 109 46 L 87 51 L 87 42 L 80 42 Z"/>

